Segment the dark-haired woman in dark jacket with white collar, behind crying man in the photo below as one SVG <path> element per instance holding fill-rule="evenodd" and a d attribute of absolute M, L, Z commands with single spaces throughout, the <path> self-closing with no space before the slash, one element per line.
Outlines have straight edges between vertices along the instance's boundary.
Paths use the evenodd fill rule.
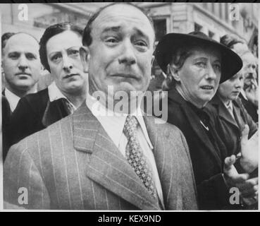
<path fill-rule="evenodd" d="M 82 71 L 82 30 L 70 23 L 47 28 L 39 42 L 42 65 L 54 79 L 48 88 L 23 97 L 11 117 L 11 143 L 40 131 L 82 105 L 87 74 Z"/>

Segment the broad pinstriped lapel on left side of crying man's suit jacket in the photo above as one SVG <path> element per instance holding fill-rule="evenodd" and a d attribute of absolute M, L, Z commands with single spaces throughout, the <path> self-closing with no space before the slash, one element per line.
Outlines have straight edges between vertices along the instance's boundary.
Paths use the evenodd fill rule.
<path fill-rule="evenodd" d="M 159 210 L 125 157 L 86 105 L 73 114 L 76 150 L 89 155 L 87 177 L 140 209 Z"/>

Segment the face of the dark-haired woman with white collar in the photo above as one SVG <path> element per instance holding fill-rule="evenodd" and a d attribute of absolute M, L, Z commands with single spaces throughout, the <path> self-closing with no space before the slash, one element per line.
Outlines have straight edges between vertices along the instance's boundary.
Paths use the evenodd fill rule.
<path fill-rule="evenodd" d="M 46 45 L 47 59 L 57 87 L 64 93 L 85 89 L 87 74 L 80 61 L 81 37 L 66 30 L 51 37 Z"/>

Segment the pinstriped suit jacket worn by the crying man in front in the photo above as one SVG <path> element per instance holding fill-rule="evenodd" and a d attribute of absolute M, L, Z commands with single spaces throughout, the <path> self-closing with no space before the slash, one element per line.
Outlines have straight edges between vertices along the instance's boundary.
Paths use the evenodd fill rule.
<path fill-rule="evenodd" d="M 185 137 L 144 117 L 154 147 L 166 210 L 195 210 L 192 162 Z M 85 103 L 74 114 L 13 145 L 4 164 L 4 201 L 28 209 L 159 210 L 159 203 Z M 7 206 L 8 207 L 8 206 Z"/>

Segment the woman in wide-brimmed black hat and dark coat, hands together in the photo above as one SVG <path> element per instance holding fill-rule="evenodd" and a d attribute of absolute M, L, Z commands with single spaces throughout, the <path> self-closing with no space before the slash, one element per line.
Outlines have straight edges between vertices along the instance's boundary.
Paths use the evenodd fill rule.
<path fill-rule="evenodd" d="M 240 71 L 240 57 L 202 32 L 164 36 L 155 56 L 167 74 L 163 90 L 168 90 L 168 122 L 180 128 L 190 148 L 199 208 L 234 208 L 230 206 L 229 189 L 241 188 L 238 182 L 247 184 L 246 189 L 240 189 L 242 194 L 255 196 L 254 185 L 247 183 L 249 175 L 236 172 L 235 155 L 228 157 L 204 111 L 218 84 Z"/>

